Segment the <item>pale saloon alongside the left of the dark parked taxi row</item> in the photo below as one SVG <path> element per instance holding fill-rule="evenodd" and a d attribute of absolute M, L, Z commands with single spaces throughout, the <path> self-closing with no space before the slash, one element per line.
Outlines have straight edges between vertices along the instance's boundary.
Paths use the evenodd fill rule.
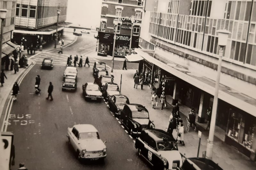
<path fill-rule="evenodd" d="M 102 93 L 100 92 L 100 87 L 96 83 L 85 83 L 82 85 L 83 89 L 83 96 L 85 97 L 85 100 L 97 100 L 101 101 L 102 99 Z"/>

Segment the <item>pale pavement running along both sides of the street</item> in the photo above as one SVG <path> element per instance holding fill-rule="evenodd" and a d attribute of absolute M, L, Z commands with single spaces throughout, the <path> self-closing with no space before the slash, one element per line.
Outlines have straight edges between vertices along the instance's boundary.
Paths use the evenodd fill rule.
<path fill-rule="evenodd" d="M 65 47 L 68 47 L 69 45 L 73 44 L 77 37 L 72 34 L 72 31 L 65 31 L 64 35 L 61 37 L 64 38 L 64 48 L 63 52 L 65 51 Z M 59 49 L 59 46 L 57 46 L 56 49 L 54 49 L 54 41 L 51 43 L 48 43 L 43 46 L 42 52 L 48 52 L 52 50 L 56 50 L 56 52 Z M 41 51 L 36 51 L 37 53 L 41 53 Z M 27 51 L 24 51 L 21 53 L 21 55 L 27 55 Z M 83 54 L 84 56 L 89 56 L 89 58 L 96 58 L 99 60 L 112 60 L 112 56 L 98 56 L 97 52 L 90 51 L 88 53 Z M 28 64 L 29 66 L 24 69 L 20 68 L 19 72 L 17 74 L 14 74 L 14 71 L 5 71 L 7 79 L 5 79 L 5 83 L 3 87 L 0 87 L 0 127 L 2 128 L 1 131 L 4 131 L 6 129 L 3 129 L 3 122 L 6 119 L 4 115 L 5 113 L 10 111 L 10 103 L 11 103 L 11 91 L 12 86 L 15 83 L 15 81 L 20 84 L 23 77 L 25 77 L 26 72 L 32 68 L 32 65 L 35 64 L 34 62 L 29 60 L 28 56 Z M 115 61 L 124 61 L 124 58 L 115 58 Z M 172 111 L 172 96 L 167 96 L 167 107 L 165 107 L 163 110 L 161 110 L 161 107 L 158 105 L 156 109 L 152 108 L 151 105 L 151 96 L 152 96 L 152 90 L 148 85 L 143 86 L 143 90 L 140 89 L 140 86 L 138 86 L 138 89 L 133 88 L 133 74 L 135 73 L 135 70 L 129 69 L 129 62 L 127 62 L 127 68 L 128 70 L 114 70 L 113 75 L 115 76 L 114 81 L 117 82 L 120 86 L 121 93 L 126 95 L 131 103 L 139 103 L 144 106 L 149 111 L 150 119 L 154 121 L 154 124 L 157 129 L 165 129 L 168 127 L 168 120 L 169 116 Z M 122 75 L 122 84 L 120 85 Z M 136 95 L 134 95 L 136 93 Z M 18 99 L 19 100 L 19 95 Z M 159 100 L 159 99 L 158 99 Z M 184 125 L 186 124 L 186 117 L 188 113 L 190 112 L 190 108 L 186 107 L 184 105 L 181 105 L 179 103 L 180 107 L 180 116 L 181 119 L 184 122 Z M 6 126 L 5 126 L 6 127 Z M 186 127 L 186 125 L 185 125 Z M 197 129 L 202 131 L 201 135 L 201 144 L 200 144 L 200 150 L 199 150 L 199 157 L 202 157 L 202 153 L 206 151 L 206 145 L 207 145 L 207 138 L 209 135 L 209 132 L 204 130 L 206 127 L 206 124 L 198 124 L 197 123 Z M 179 144 L 179 151 L 182 154 L 185 154 L 186 157 L 196 157 L 197 150 L 198 150 L 198 132 L 193 131 L 193 129 L 190 129 L 188 132 L 187 130 L 184 130 L 184 142 L 185 146 L 181 146 Z M 177 132 L 173 130 L 173 136 L 177 136 Z M 251 170 L 255 169 L 256 162 L 251 161 L 248 157 L 243 155 L 242 153 L 238 152 L 235 148 L 233 148 L 230 145 L 225 144 L 222 140 L 220 140 L 218 137 L 214 137 L 214 143 L 213 143 L 213 153 L 212 153 L 212 160 L 219 164 L 219 166 L 223 169 L 233 169 L 233 170 Z"/>

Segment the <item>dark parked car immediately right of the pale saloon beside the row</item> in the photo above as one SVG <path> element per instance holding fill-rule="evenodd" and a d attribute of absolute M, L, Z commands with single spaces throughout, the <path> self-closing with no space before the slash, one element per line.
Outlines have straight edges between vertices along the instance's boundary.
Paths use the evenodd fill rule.
<path fill-rule="evenodd" d="M 114 94 L 120 94 L 119 87 L 116 83 L 105 83 L 101 88 L 102 97 L 105 100 L 108 100 L 108 97 L 111 97 Z"/>

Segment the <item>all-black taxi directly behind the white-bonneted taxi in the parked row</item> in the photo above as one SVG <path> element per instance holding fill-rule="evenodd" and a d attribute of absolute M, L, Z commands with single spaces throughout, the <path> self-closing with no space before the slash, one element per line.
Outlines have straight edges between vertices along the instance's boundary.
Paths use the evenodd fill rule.
<path fill-rule="evenodd" d="M 132 136 L 140 135 L 142 129 L 155 129 L 155 125 L 149 120 L 148 110 L 140 104 L 125 104 L 120 118 Z"/>

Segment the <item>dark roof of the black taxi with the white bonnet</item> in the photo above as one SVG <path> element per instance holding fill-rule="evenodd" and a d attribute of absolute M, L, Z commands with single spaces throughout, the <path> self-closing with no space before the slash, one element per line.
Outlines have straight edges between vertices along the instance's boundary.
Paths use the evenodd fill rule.
<path fill-rule="evenodd" d="M 148 136 L 153 138 L 156 142 L 163 141 L 163 137 L 168 141 L 175 141 L 175 139 L 172 136 L 167 135 L 166 132 L 161 129 L 145 129 L 142 130 L 142 133 L 148 134 Z"/>

